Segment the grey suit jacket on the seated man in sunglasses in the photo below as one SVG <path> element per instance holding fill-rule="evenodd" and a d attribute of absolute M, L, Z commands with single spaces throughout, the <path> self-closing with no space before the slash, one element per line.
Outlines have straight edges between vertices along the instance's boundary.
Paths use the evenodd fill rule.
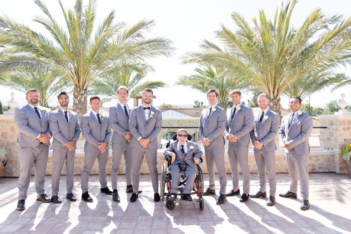
<path fill-rule="evenodd" d="M 178 142 L 179 140 L 173 141 L 171 145 L 163 152 L 163 155 L 166 156 L 171 156 L 172 153 L 176 154 L 176 160 L 168 167 L 168 170 L 170 170 L 172 165 L 179 164 L 181 161 L 185 161 L 188 163 L 189 166 L 191 166 L 196 173 L 198 173 L 198 169 L 196 166 L 196 163 L 194 161 L 194 158 L 201 158 L 203 152 L 199 149 L 199 146 L 197 143 L 192 142 L 192 141 L 186 141 L 188 144 L 188 149 L 186 154 L 183 154 L 180 151 L 180 147 L 178 147 Z M 190 150 L 189 147 L 192 146 L 194 147 L 193 150 Z"/>

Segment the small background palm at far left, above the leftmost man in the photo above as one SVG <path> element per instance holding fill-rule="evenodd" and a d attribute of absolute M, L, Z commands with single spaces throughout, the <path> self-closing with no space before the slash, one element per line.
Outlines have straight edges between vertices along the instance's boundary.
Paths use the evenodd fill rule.
<path fill-rule="evenodd" d="M 24 93 L 30 88 L 35 88 L 40 93 L 39 105 L 48 107 L 49 102 L 51 102 L 62 89 L 72 86 L 69 80 L 64 80 L 62 78 L 62 75 L 53 72 L 51 68 L 38 69 L 37 71 L 13 71 L 3 76 L 4 80 L 0 82 L 0 85 Z"/>

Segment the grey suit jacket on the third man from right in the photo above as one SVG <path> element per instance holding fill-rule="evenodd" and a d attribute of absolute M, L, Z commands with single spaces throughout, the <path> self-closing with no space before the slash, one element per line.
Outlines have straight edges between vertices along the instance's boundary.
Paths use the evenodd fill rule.
<path fill-rule="evenodd" d="M 228 141 L 228 145 L 233 145 L 234 143 L 238 143 L 239 145 L 245 146 L 250 145 L 250 136 L 249 133 L 253 128 L 253 111 L 250 107 L 244 106 L 241 103 L 240 105 L 241 111 L 234 115 L 232 120 L 231 110 L 232 108 L 227 110 L 227 122 L 225 126 L 225 137 L 233 134 L 238 139 L 238 142 Z"/>

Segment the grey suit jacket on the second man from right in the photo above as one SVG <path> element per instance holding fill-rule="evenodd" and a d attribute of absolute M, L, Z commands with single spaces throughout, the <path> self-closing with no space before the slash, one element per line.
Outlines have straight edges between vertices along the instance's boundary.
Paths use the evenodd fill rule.
<path fill-rule="evenodd" d="M 274 138 L 277 136 L 279 131 L 280 118 L 276 112 L 267 110 L 265 116 L 268 117 L 267 120 L 263 119 L 260 123 L 259 111 L 254 113 L 253 129 L 250 132 L 250 138 L 252 145 L 255 141 L 260 141 L 263 143 L 263 151 L 275 151 L 277 149 L 276 142 Z"/>

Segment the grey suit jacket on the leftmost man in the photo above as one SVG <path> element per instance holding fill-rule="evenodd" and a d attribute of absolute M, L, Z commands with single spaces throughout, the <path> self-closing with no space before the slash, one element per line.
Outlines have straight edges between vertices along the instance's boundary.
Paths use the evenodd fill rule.
<path fill-rule="evenodd" d="M 26 106 L 15 109 L 14 120 L 16 122 L 19 134 L 18 142 L 20 147 L 36 147 L 40 141 L 38 135 L 47 133 L 52 136 L 49 129 L 49 113 L 51 109 L 38 106 L 41 110 L 41 119 L 39 119 L 34 109 L 27 104 Z M 50 142 L 45 143 L 50 145 Z"/>

